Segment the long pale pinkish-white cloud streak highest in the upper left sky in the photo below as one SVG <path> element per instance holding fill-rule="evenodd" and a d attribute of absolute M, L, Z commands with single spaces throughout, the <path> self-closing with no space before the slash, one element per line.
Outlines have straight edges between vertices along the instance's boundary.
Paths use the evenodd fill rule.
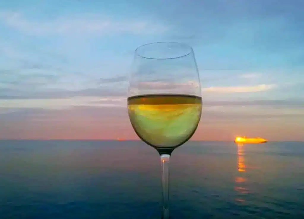
<path fill-rule="evenodd" d="M 29 35 L 109 35 L 116 33 L 157 34 L 167 30 L 150 20 L 115 20 L 94 14 L 63 16 L 53 20 L 31 20 L 18 12 L 0 12 L 1 21 Z"/>

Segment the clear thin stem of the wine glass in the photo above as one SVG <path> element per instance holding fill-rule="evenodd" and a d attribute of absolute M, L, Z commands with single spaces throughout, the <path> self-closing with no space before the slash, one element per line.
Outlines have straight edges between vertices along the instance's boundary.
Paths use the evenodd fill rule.
<path fill-rule="evenodd" d="M 170 155 L 169 154 L 161 154 L 161 167 L 162 167 L 162 219 L 169 218 L 169 162 L 170 162 Z"/>

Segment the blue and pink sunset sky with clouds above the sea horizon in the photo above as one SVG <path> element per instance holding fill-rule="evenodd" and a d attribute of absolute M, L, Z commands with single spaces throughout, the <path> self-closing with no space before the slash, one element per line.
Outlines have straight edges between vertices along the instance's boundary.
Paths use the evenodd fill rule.
<path fill-rule="evenodd" d="M 304 141 L 302 0 L 0 2 L 0 139 L 138 139 L 134 50 L 192 46 L 203 113 L 192 140 Z"/>

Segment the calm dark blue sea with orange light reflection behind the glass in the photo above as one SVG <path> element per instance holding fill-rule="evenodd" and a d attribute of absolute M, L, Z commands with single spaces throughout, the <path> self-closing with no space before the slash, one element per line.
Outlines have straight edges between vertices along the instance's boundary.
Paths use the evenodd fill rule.
<path fill-rule="evenodd" d="M 304 143 L 189 142 L 171 218 L 304 218 Z M 160 218 L 157 152 L 138 141 L 0 141 L 1 219 Z"/>

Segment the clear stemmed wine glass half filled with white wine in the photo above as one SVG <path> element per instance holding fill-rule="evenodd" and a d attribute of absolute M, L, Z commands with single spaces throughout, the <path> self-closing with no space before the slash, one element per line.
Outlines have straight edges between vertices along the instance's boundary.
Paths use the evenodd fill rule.
<path fill-rule="evenodd" d="M 135 50 L 129 80 L 128 113 L 136 134 L 161 157 L 162 218 L 169 218 L 169 161 L 199 124 L 202 96 L 193 49 L 178 42 L 154 42 Z"/>

